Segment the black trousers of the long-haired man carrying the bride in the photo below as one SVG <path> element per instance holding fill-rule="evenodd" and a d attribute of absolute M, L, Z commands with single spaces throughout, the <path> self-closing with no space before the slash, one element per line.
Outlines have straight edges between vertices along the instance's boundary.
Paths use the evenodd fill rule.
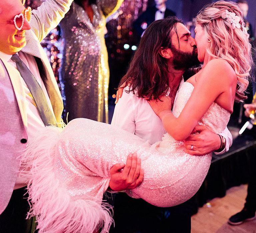
<path fill-rule="evenodd" d="M 110 233 L 190 233 L 194 199 L 161 208 L 126 193 L 118 193 L 114 203 L 115 227 Z"/>

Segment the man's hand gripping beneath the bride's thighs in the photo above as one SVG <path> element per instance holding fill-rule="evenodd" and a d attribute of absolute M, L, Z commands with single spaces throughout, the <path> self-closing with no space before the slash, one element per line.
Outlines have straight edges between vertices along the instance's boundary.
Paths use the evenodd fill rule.
<path fill-rule="evenodd" d="M 141 184 L 144 170 L 140 167 L 140 158 L 136 154 L 130 154 L 125 164 L 115 164 L 110 169 L 109 187 L 115 192 L 126 189 L 134 189 Z"/>

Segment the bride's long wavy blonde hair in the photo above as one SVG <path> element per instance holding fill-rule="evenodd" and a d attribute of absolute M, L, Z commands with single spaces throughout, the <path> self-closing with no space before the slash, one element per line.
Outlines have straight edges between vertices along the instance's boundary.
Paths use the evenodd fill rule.
<path fill-rule="evenodd" d="M 244 94 L 253 65 L 249 34 L 243 32 L 243 27 L 232 28 L 232 23 L 221 17 L 228 10 L 240 17 L 240 25 L 244 20 L 239 6 L 234 2 L 218 1 L 206 5 L 196 16 L 196 24 L 200 25 L 209 39 L 206 52 L 212 58 L 226 60 L 237 76 L 235 101 L 246 99 Z"/>

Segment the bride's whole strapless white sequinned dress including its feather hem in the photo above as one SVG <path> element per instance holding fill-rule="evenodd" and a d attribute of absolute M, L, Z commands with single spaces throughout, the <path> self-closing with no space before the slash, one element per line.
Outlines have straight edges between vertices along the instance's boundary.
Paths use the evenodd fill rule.
<path fill-rule="evenodd" d="M 192 91 L 192 84 L 182 85 L 174 116 L 179 116 Z M 199 124 L 219 133 L 229 117 L 228 111 L 213 103 Z M 107 232 L 112 218 L 102 197 L 109 184 L 109 170 L 135 151 L 145 175 L 142 184 L 127 194 L 161 207 L 191 198 L 211 162 L 211 154 L 186 154 L 182 142 L 168 133 L 150 145 L 115 126 L 84 118 L 70 121 L 64 129 L 46 127 L 31 140 L 23 157 L 23 165 L 32 172 L 30 214 L 37 216 L 40 231 L 93 232 L 103 225 L 102 231 Z"/>

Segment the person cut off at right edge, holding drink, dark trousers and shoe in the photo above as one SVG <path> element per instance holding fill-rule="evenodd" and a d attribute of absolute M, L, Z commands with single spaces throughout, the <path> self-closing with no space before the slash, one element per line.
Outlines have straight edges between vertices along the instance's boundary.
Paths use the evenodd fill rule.
<path fill-rule="evenodd" d="M 244 105 L 245 116 L 251 118 L 251 122 L 256 124 L 256 94 L 254 94 L 252 104 Z M 231 216 L 228 223 L 231 225 L 239 225 L 245 221 L 255 219 L 256 212 L 256 169 L 252 170 L 251 177 L 248 182 L 247 197 L 245 199 L 244 208 Z"/>

